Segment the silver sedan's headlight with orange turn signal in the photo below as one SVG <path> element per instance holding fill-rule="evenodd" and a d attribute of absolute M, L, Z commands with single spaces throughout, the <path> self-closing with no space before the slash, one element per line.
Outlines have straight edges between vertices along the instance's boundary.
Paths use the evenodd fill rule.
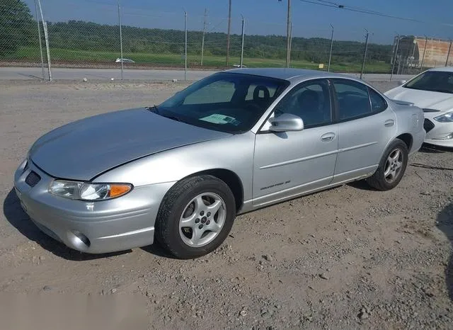
<path fill-rule="evenodd" d="M 84 183 L 78 181 L 54 180 L 49 192 L 73 200 L 109 200 L 129 193 L 129 183 Z"/>

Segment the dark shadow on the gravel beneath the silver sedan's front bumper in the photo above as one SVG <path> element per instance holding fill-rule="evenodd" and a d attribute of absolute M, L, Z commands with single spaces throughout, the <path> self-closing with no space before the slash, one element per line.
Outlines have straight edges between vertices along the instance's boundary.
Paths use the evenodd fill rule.
<path fill-rule="evenodd" d="M 119 256 L 121 254 L 130 253 L 131 250 L 114 252 L 110 254 L 85 254 L 73 249 L 64 244 L 48 237 L 46 234 L 40 231 L 38 227 L 30 220 L 30 217 L 23 211 L 21 207 L 21 202 L 16 195 L 16 191 L 12 189 L 6 196 L 3 203 L 3 212 L 6 217 L 6 220 L 13 227 L 16 227 L 21 234 L 30 239 L 30 241 L 35 241 L 40 244 L 43 249 L 50 251 L 55 256 L 64 258 L 70 261 L 89 261 L 99 258 L 107 258 L 111 256 Z"/>

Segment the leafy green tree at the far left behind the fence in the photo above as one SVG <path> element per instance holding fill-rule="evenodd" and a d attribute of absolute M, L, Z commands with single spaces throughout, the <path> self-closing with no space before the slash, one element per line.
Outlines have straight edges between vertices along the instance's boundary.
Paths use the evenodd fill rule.
<path fill-rule="evenodd" d="M 0 57 L 30 44 L 33 22 L 30 8 L 23 1 L 0 1 Z"/>

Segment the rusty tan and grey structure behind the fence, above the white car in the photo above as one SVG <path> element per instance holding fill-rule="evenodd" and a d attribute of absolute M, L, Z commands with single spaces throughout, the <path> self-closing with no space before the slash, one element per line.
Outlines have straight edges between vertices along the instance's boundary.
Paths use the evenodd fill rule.
<path fill-rule="evenodd" d="M 396 53 L 396 47 L 398 52 Z M 411 72 L 414 69 L 453 65 L 451 40 L 403 35 L 395 37 L 391 63 L 394 73 Z M 448 63 L 447 63 L 448 62 Z"/>

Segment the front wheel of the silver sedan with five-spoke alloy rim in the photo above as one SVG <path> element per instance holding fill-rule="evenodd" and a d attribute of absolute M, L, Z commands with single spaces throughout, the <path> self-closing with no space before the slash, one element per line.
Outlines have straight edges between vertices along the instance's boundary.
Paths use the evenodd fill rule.
<path fill-rule="evenodd" d="M 185 178 L 162 200 L 156 239 L 176 258 L 205 256 L 226 239 L 235 217 L 234 195 L 224 181 L 210 175 Z"/>

